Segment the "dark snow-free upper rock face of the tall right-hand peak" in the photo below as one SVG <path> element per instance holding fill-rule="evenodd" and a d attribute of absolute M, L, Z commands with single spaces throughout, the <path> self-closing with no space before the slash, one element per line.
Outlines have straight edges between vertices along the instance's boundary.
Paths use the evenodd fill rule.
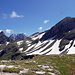
<path fill-rule="evenodd" d="M 61 39 L 63 38 L 64 33 L 69 32 L 74 28 L 75 28 L 75 18 L 66 17 L 60 22 L 58 22 L 51 29 L 46 31 L 45 35 L 43 35 L 41 40 L 47 40 L 48 38 Z"/>

